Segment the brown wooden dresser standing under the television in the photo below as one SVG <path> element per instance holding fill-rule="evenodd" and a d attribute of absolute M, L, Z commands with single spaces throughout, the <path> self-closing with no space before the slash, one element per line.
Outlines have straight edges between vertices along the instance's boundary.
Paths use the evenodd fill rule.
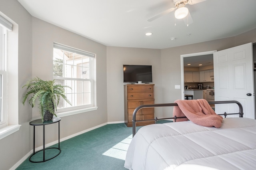
<path fill-rule="evenodd" d="M 132 127 L 132 114 L 140 105 L 154 104 L 154 84 L 124 85 L 124 122 Z M 144 108 L 137 112 L 136 120 L 154 119 L 154 108 Z M 136 123 L 136 126 L 154 124 L 154 121 Z"/>

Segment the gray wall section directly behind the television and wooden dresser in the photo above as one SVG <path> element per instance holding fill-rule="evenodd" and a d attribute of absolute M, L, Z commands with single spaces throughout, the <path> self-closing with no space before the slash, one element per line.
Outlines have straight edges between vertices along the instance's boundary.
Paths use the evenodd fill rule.
<path fill-rule="evenodd" d="M 161 50 L 107 47 L 108 122 L 124 122 L 123 64 L 152 65 L 155 100 L 162 102 Z"/>

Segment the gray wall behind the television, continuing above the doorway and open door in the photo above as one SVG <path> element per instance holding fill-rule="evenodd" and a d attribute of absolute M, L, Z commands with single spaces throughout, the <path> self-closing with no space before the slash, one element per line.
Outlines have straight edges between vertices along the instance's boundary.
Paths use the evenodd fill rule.
<path fill-rule="evenodd" d="M 220 51 L 248 42 L 256 42 L 256 29 L 235 37 L 166 49 L 107 47 L 108 122 L 124 121 L 123 64 L 152 65 L 155 103 L 173 103 L 181 99 L 181 89 L 174 89 L 174 85 L 181 85 L 180 55 Z M 171 108 L 162 109 L 155 112 L 157 117 L 172 116 Z"/>

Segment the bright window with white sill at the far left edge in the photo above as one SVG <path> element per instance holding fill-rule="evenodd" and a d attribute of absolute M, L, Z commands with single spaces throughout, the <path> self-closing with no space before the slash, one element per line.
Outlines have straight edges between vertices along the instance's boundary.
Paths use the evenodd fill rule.
<path fill-rule="evenodd" d="M 18 27 L 4 17 L 0 16 L 0 140 L 21 127 L 18 125 Z"/>

